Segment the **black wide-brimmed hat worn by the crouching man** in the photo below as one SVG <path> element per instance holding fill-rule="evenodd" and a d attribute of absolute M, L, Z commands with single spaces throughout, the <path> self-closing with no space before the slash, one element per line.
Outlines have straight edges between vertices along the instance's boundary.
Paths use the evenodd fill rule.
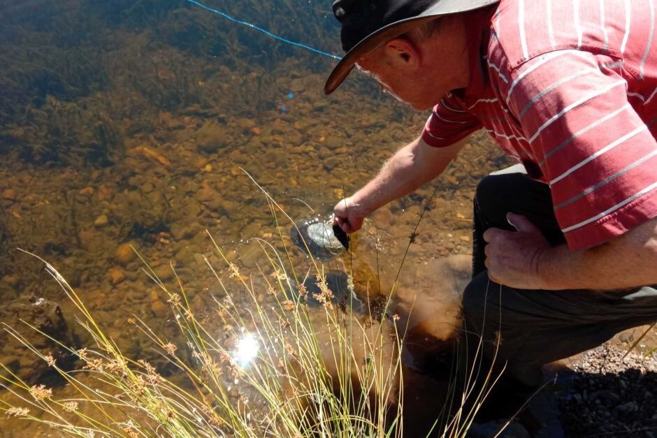
<path fill-rule="evenodd" d="M 340 37 L 347 52 L 324 85 L 331 94 L 347 78 L 356 62 L 414 27 L 440 15 L 483 8 L 499 0 L 337 0 L 333 14 L 342 23 Z"/>

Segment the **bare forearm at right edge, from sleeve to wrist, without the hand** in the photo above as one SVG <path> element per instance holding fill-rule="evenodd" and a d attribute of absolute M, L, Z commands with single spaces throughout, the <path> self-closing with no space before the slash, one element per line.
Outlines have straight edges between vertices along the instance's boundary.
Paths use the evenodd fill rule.
<path fill-rule="evenodd" d="M 657 219 L 598 247 L 544 251 L 538 275 L 544 289 L 623 289 L 657 284 Z"/>

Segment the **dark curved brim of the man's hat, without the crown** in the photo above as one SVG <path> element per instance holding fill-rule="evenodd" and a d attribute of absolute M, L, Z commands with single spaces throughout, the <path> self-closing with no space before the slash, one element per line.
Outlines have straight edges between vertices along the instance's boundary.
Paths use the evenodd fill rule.
<path fill-rule="evenodd" d="M 331 75 L 329 75 L 329 79 L 326 80 L 324 94 L 331 94 L 335 89 L 340 87 L 340 84 L 342 84 L 349 73 L 351 73 L 354 65 L 356 65 L 356 62 L 358 62 L 359 59 L 391 39 L 405 34 L 419 24 L 435 20 L 435 18 L 440 15 L 475 10 L 483 8 L 484 6 L 489 6 L 493 3 L 498 3 L 498 1 L 500 0 L 438 0 L 433 6 L 427 8 L 423 13 L 416 15 L 415 17 L 398 20 L 374 31 L 363 38 L 358 44 L 354 45 L 352 50 L 349 50 L 349 52 L 340 59 L 338 65 L 333 68 Z"/>

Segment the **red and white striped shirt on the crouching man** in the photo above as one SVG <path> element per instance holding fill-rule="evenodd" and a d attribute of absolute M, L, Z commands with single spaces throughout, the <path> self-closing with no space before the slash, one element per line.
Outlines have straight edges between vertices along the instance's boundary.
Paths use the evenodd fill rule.
<path fill-rule="evenodd" d="M 488 131 L 550 185 L 570 249 L 657 217 L 657 0 L 502 0 L 472 13 L 479 59 L 422 133 Z"/>

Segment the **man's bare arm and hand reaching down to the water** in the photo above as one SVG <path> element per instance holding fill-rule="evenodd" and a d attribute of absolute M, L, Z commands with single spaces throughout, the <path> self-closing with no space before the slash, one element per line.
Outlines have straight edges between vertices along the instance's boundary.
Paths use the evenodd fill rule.
<path fill-rule="evenodd" d="M 422 138 L 399 149 L 362 189 L 335 205 L 334 224 L 343 231 L 358 231 L 368 214 L 401 198 L 440 175 L 465 144 L 431 147 Z"/>

